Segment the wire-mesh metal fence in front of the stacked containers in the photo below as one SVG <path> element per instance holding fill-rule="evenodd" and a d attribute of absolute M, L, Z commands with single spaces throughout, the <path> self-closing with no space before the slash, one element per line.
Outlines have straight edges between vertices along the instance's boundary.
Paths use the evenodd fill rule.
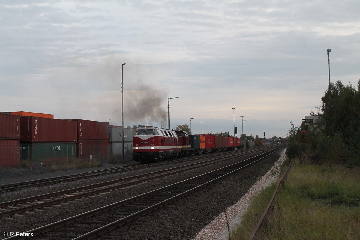
<path fill-rule="evenodd" d="M 122 145 L 89 145 L 75 143 L 21 143 L 17 148 L 0 148 L 0 175 L 42 174 L 50 171 L 100 167 L 123 161 Z M 132 161 L 132 146 L 124 147 L 124 159 Z"/>

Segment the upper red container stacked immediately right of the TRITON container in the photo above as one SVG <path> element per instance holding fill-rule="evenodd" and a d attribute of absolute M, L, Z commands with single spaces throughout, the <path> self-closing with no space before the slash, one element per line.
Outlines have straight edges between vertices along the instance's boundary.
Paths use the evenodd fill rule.
<path fill-rule="evenodd" d="M 74 119 L 77 121 L 77 139 L 109 140 L 109 123 Z"/>

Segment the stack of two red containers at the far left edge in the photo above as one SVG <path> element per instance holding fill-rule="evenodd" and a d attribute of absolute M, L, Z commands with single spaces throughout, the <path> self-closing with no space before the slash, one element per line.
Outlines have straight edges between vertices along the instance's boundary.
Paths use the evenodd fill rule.
<path fill-rule="evenodd" d="M 16 167 L 19 158 L 19 116 L 0 113 L 0 166 Z"/>

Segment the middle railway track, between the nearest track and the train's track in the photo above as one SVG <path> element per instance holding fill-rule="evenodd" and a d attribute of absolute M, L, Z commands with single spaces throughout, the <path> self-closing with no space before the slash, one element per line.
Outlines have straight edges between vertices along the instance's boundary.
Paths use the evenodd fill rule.
<path fill-rule="evenodd" d="M 180 167 L 173 167 L 151 173 L 144 173 L 131 177 L 125 177 L 116 180 L 76 187 L 73 189 L 67 189 L 67 190 L 57 191 L 48 194 L 31 196 L 23 199 L 12 200 L 12 201 L 6 201 L 0 203 L 0 217 L 11 216 L 14 214 L 22 214 L 24 212 L 29 212 L 35 209 L 49 207 L 51 205 L 64 203 L 66 201 L 85 198 L 87 196 L 93 196 L 97 194 L 104 194 L 126 186 L 174 175 L 180 172 L 190 171 L 192 169 L 224 162 L 226 160 L 241 157 L 247 154 L 248 152 L 237 152 L 237 153 L 233 152 L 233 154 L 230 155 L 227 154 L 224 157 L 210 159 L 203 162 L 192 163 Z"/>

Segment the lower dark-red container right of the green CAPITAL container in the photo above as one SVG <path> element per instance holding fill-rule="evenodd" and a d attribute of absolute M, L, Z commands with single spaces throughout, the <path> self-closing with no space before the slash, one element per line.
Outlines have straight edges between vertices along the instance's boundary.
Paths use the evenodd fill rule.
<path fill-rule="evenodd" d="M 81 159 L 108 159 L 109 157 L 109 141 L 108 140 L 79 140 L 77 142 L 76 155 Z"/>

